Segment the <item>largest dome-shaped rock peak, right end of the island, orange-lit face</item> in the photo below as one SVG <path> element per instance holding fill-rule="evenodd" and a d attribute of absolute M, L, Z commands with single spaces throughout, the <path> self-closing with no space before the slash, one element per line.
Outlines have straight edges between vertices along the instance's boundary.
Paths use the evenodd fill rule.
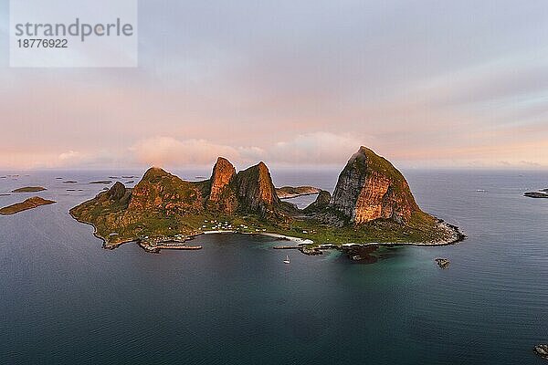
<path fill-rule="evenodd" d="M 379 218 L 406 224 L 420 212 L 401 172 L 365 147 L 353 154 L 339 175 L 330 206 L 354 224 Z"/>

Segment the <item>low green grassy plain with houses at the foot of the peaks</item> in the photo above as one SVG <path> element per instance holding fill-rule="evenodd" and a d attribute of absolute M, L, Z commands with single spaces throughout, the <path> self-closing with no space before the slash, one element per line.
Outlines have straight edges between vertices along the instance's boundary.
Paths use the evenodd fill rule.
<path fill-rule="evenodd" d="M 71 210 L 71 214 L 79 221 L 93 224 L 96 235 L 99 235 L 111 245 L 135 239 L 153 240 L 167 239 L 175 235 L 196 235 L 205 231 L 227 229 L 218 228 L 218 222 L 232 225 L 232 229 L 242 233 L 266 232 L 280 235 L 290 235 L 303 239 L 311 239 L 316 245 L 347 243 L 424 243 L 445 238 L 436 228 L 436 221 L 431 216 L 415 216 L 414 222 L 407 226 L 395 224 L 388 220 L 377 220 L 359 227 L 346 225 L 341 228 L 321 224 L 313 219 L 295 218 L 289 224 L 273 223 L 254 214 L 223 215 L 223 214 L 188 214 L 164 216 L 157 213 L 142 214 L 135 223 L 120 224 L 125 207 L 121 203 L 90 201 Z M 213 224 L 211 221 L 216 221 Z M 207 221 L 207 222 L 205 222 Z M 203 227 L 205 225 L 205 227 Z M 247 226 L 247 228 L 241 225 Z M 306 232 L 306 233 L 305 233 Z M 111 235 L 116 233 L 118 235 Z M 145 237 L 148 237 L 146 239 Z"/>

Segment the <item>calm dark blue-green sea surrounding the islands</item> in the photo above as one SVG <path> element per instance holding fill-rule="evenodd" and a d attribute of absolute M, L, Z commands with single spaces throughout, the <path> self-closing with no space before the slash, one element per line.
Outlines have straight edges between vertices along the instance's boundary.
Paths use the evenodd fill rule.
<path fill-rule="evenodd" d="M 548 200 L 522 194 L 548 187 L 548 172 L 404 171 L 419 205 L 469 239 L 385 249 L 371 265 L 249 235 L 204 235 L 192 252 L 104 250 L 68 209 L 121 172 L 19 173 L 0 193 L 47 191 L 0 206 L 58 203 L 0 216 L 0 363 L 543 363 L 532 346 L 548 342 Z M 332 190 L 337 173 L 272 176 Z"/>

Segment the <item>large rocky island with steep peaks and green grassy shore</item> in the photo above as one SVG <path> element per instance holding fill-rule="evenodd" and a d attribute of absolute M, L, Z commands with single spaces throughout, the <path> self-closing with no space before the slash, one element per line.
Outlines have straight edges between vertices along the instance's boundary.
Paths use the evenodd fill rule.
<path fill-rule="evenodd" d="M 134 188 L 114 183 L 70 214 L 92 224 L 105 248 L 137 242 L 153 252 L 219 232 L 282 235 L 311 255 L 326 247 L 448 245 L 465 238 L 424 213 L 401 172 L 365 147 L 348 161 L 333 195 L 321 191 L 303 210 L 280 200 L 264 162 L 237 172 L 219 157 L 210 179 L 186 182 L 153 167 Z"/>

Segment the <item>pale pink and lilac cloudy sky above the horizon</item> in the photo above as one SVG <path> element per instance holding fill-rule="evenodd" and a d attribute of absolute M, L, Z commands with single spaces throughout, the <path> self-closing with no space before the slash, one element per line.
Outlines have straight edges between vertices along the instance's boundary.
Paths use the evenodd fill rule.
<path fill-rule="evenodd" d="M 548 169 L 548 2 L 139 5 L 139 68 L 8 68 L 0 169 L 333 165 Z"/>

